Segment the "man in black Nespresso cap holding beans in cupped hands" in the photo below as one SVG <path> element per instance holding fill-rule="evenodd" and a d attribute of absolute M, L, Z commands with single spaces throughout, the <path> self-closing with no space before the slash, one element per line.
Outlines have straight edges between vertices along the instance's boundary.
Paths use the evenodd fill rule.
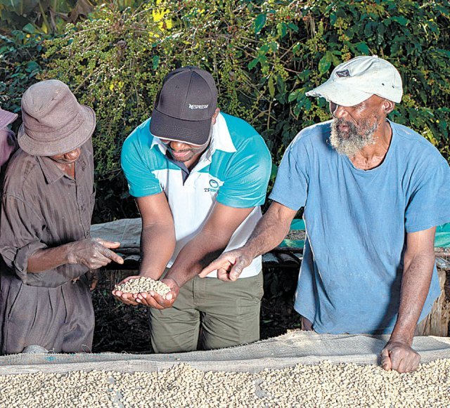
<path fill-rule="evenodd" d="M 249 237 L 262 215 L 271 171 L 257 131 L 219 112 L 211 74 L 184 67 L 165 77 L 152 117 L 122 147 L 122 168 L 143 221 L 139 275 L 159 279 L 166 271 L 162 280 L 172 291 L 165 298 L 113 293 L 126 304 L 152 308 L 153 350 L 257 341 L 261 257 L 231 286 L 215 271 L 196 277 L 214 256 Z"/>

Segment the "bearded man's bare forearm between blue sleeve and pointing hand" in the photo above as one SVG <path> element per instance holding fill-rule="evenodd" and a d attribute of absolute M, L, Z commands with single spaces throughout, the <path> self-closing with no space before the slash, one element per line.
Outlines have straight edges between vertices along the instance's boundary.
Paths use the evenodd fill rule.
<path fill-rule="evenodd" d="M 296 211 L 276 202 L 271 204 L 242 249 L 252 258 L 274 249 L 288 235 L 295 213 Z"/>

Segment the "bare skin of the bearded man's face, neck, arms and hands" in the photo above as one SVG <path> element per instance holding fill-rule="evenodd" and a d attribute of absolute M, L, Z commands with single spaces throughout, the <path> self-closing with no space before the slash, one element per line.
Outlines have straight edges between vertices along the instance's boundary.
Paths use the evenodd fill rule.
<path fill-rule="evenodd" d="M 355 126 L 363 121 L 378 124 L 375 144 L 361 149 L 350 158 L 357 169 L 370 170 L 379 166 L 389 149 L 392 130 L 386 121 L 387 114 L 394 109 L 394 103 L 378 96 L 372 96 L 354 107 L 330 104 L 335 118 L 344 118 Z M 345 126 L 340 131 L 345 132 Z M 296 211 L 274 202 L 257 224 L 248 242 L 239 249 L 222 254 L 201 273 L 205 277 L 212 270 L 218 270 L 218 277 L 224 281 L 238 278 L 243 268 L 250 265 L 256 256 L 265 254 L 280 244 L 288 233 Z M 414 331 L 430 288 L 435 263 L 435 228 L 406 234 L 404 271 L 401 279 L 400 305 L 394 330 L 381 352 L 383 369 L 394 369 L 400 373 L 417 369 L 420 355 L 411 348 Z"/>

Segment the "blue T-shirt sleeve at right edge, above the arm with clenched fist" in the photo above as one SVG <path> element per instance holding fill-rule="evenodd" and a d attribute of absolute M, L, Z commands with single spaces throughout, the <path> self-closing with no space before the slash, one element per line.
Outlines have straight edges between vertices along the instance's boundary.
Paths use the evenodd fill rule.
<path fill-rule="evenodd" d="M 450 221 L 450 167 L 435 148 L 430 156 L 416 171 L 416 183 L 411 182 L 413 191 L 405 210 L 406 232 L 428 230 Z"/>

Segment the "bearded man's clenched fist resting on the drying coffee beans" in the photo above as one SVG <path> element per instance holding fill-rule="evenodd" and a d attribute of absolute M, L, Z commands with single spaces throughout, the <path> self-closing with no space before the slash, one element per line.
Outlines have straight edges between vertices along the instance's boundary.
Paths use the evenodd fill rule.
<path fill-rule="evenodd" d="M 408 373 L 417 369 L 420 362 L 420 355 L 406 341 L 388 341 L 380 355 L 381 366 L 386 371 Z"/>

